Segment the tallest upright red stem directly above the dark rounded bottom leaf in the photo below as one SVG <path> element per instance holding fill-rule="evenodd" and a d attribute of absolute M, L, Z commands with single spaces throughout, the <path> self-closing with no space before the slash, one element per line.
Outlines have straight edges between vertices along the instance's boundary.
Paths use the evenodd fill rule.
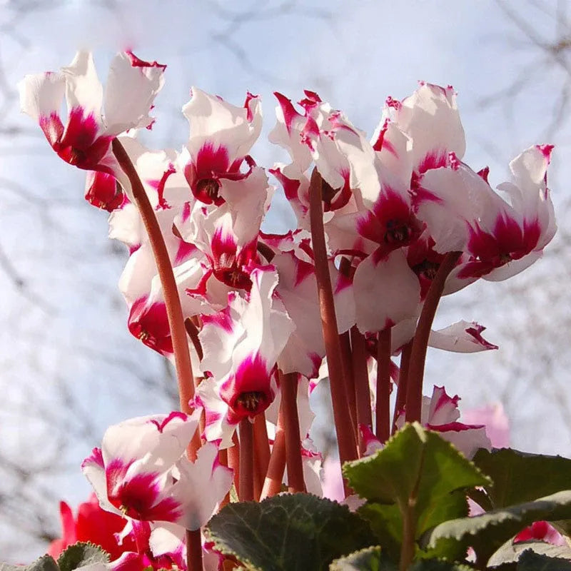
<path fill-rule="evenodd" d="M 281 410 L 285 433 L 285 465 L 288 468 L 288 491 L 305 492 L 301 438 L 298 416 L 298 374 L 280 371 Z"/>

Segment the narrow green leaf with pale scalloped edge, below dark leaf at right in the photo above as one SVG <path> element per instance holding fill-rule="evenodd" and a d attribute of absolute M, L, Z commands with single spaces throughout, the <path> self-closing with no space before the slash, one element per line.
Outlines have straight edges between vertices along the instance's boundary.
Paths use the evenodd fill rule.
<path fill-rule="evenodd" d="M 482 565 L 507 540 L 532 522 L 570 518 L 571 490 L 565 490 L 534 502 L 493 510 L 475 517 L 449 520 L 440 523 L 427 534 L 428 555 L 443 555 L 453 544 L 462 550 L 471 546 L 477 554 L 478 565 Z"/>

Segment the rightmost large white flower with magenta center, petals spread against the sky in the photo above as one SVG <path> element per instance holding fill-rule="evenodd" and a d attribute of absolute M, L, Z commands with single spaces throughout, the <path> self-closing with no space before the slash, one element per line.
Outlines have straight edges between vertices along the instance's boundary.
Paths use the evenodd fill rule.
<path fill-rule="evenodd" d="M 435 241 L 435 250 L 465 251 L 460 279 L 500 281 L 542 256 L 555 235 L 555 215 L 547 188 L 551 146 L 534 146 L 510 163 L 512 182 L 492 191 L 487 171 L 460 163 L 420 178 L 418 214 Z"/>

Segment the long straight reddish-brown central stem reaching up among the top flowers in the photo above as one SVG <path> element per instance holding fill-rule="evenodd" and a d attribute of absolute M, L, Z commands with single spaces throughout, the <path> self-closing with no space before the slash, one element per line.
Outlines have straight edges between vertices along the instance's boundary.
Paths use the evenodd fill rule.
<path fill-rule="evenodd" d="M 325 248 L 325 233 L 323 229 L 323 205 L 321 202 L 321 176 L 317 168 L 311 173 L 309 190 L 309 212 L 311 223 L 311 243 L 315 257 L 315 277 L 318 284 L 319 306 L 321 313 L 321 326 L 325 340 L 325 353 L 329 368 L 329 385 L 331 400 L 333 401 L 333 418 L 337 432 L 339 458 L 341 463 L 357 458 L 357 447 L 353 438 L 353 428 L 350 423 L 350 414 L 347 395 L 345 395 L 345 381 L 343 380 L 344 367 L 341 357 L 341 344 L 337 319 L 335 318 L 335 305 L 333 304 L 333 290 L 329 275 L 327 249 Z"/>

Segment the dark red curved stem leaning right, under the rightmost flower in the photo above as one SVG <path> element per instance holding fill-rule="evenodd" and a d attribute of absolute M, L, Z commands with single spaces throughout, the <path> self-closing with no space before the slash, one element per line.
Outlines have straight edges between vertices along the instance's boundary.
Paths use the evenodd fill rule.
<path fill-rule="evenodd" d="M 420 422 L 420 411 L 423 402 L 423 377 L 426 360 L 426 350 L 428 348 L 428 338 L 432 327 L 438 302 L 442 297 L 446 278 L 453 271 L 462 252 L 448 252 L 443 259 L 433 283 L 430 284 L 423 310 L 416 327 L 413 338 L 413 348 L 410 352 L 410 368 L 408 370 L 408 382 L 406 392 L 406 420 L 412 423 L 415 420 Z"/>

